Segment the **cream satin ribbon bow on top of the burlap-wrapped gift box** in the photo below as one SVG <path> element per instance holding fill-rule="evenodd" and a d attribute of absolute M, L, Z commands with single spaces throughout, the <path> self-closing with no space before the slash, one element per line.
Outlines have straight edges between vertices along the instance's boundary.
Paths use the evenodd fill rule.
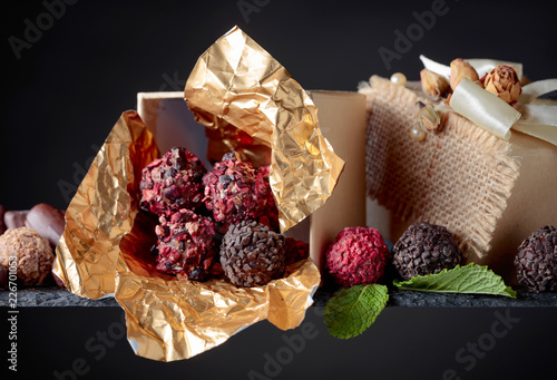
<path fill-rule="evenodd" d="M 450 67 L 423 56 L 420 56 L 420 59 L 428 70 L 449 79 Z M 517 70 L 519 78 L 522 76 L 521 64 L 495 59 L 466 61 L 476 69 L 480 78 L 498 65 L 510 65 Z M 557 79 L 538 80 L 522 86 L 518 98 L 519 110 L 516 110 L 497 95 L 465 78 L 455 88 L 449 104 L 453 111 L 502 139 L 510 138 L 512 128 L 557 146 L 557 103 L 539 99 L 540 96 L 555 90 Z M 439 108 L 442 108 L 442 105 Z"/>

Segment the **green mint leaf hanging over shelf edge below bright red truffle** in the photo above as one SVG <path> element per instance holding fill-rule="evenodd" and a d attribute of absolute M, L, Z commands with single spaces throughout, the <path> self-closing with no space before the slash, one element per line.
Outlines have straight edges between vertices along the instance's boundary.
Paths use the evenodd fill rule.
<path fill-rule="evenodd" d="M 355 285 L 334 293 L 325 305 L 325 324 L 335 338 L 350 339 L 364 332 L 389 301 L 384 285 Z"/>

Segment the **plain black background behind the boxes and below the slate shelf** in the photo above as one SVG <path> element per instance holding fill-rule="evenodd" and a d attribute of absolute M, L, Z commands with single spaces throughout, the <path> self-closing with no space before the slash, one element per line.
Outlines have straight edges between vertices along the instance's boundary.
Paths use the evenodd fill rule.
<path fill-rule="evenodd" d="M 532 80 L 557 77 L 555 6 L 537 1 L 447 0 L 446 14 L 388 67 L 379 49 L 394 51 L 395 31 L 405 33 L 417 25 L 413 12 L 423 14 L 434 2 L 81 0 L 56 8 L 58 18 L 50 19 L 45 3 L 60 1 L 4 4 L 0 204 L 65 208 L 120 114 L 135 109 L 136 94 L 182 90 L 199 55 L 235 25 L 306 89 L 355 90 L 373 74 L 397 71 L 416 80 L 420 53 L 444 64 L 457 57 L 520 61 Z M 255 8 L 243 12 L 238 3 Z M 42 30 L 33 33 L 37 26 Z M 14 39 L 28 45 L 17 52 Z M 304 323 L 317 329 L 316 337 L 280 373 L 266 376 L 441 379 L 451 368 L 462 379 L 555 374 L 555 308 L 511 309 L 520 321 L 466 371 L 470 362 L 456 354 L 468 342 L 490 342 L 496 311 L 507 312 L 390 308 L 363 335 L 340 341 L 311 310 Z M 190 360 L 158 363 L 135 357 L 118 333 L 121 314 L 117 308 L 21 309 L 17 374 L 56 378 L 55 371 L 78 362 L 87 373 L 77 379 L 247 379 L 251 370 L 265 374 L 265 353 L 275 355 L 284 337 L 301 333 L 262 322 Z M 114 339 L 106 351 L 91 352 L 86 342 L 98 332 Z M 9 349 L 4 334 L 7 327 L 2 352 Z M 0 366 L 8 367 L 4 360 Z"/>

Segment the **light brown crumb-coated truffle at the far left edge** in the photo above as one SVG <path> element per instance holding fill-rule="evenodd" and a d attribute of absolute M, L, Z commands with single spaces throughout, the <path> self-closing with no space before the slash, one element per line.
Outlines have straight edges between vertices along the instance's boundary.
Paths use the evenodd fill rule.
<path fill-rule="evenodd" d="M 48 241 L 28 227 L 10 228 L 0 236 L 0 264 L 9 269 L 16 262 L 17 275 L 26 285 L 41 284 L 53 261 Z"/>

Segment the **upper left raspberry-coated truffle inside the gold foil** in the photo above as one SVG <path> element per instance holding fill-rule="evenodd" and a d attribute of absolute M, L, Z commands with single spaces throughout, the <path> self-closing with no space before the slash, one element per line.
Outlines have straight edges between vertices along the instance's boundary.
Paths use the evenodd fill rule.
<path fill-rule="evenodd" d="M 195 210 L 203 201 L 205 165 L 185 148 L 174 147 L 143 169 L 140 206 L 157 215 Z"/>

